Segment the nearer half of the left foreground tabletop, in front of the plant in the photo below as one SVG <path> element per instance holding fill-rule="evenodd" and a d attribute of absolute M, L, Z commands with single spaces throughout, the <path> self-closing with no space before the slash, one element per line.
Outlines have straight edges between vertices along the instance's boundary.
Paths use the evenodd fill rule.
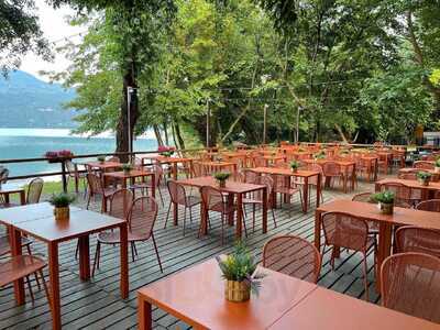
<path fill-rule="evenodd" d="M 19 207 L 22 213 L 28 212 L 26 207 Z M 12 224 L 18 230 L 44 242 L 68 241 L 81 235 L 116 228 L 125 222 L 123 219 L 117 219 L 89 210 L 75 210 L 70 212 L 70 219 L 67 221 L 56 221 L 53 213 L 40 219 L 29 220 L 29 217 L 26 217 L 26 221 L 23 221 L 23 218 L 21 220 L 4 220 L 2 210 L 0 210 L 0 222 Z"/>

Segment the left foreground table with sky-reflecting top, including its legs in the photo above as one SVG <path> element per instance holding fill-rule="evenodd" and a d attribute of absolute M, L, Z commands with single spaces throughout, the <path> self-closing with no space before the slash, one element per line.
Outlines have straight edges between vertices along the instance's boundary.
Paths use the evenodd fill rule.
<path fill-rule="evenodd" d="M 36 218 L 35 218 L 36 217 Z M 0 209 L 0 222 L 6 224 L 11 235 L 12 255 L 21 255 L 21 233 L 31 235 L 47 244 L 50 296 L 52 298 L 52 327 L 62 328 L 59 298 L 59 263 L 58 245 L 62 242 L 78 239 L 79 243 L 79 277 L 90 278 L 89 235 L 108 229 L 120 230 L 121 237 L 121 296 L 129 296 L 129 254 L 127 221 L 102 213 L 73 208 L 68 221 L 56 221 L 53 207 L 48 204 L 21 206 Z M 19 305 L 25 302 L 23 279 L 14 283 L 15 300 Z"/>

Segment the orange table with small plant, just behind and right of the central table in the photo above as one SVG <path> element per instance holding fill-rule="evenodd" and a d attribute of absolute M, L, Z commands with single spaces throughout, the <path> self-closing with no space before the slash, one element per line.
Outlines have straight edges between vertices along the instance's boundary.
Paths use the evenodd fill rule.
<path fill-rule="evenodd" d="M 302 198 L 304 198 L 304 207 L 302 211 L 307 213 L 308 211 L 308 196 L 309 196 L 309 178 L 317 176 L 318 177 L 318 184 L 317 184 L 317 207 L 319 207 L 320 202 L 320 195 L 321 195 L 321 183 L 322 183 L 322 177 L 319 172 L 316 170 L 302 170 L 298 169 L 297 172 L 292 172 L 288 168 L 278 168 L 278 167 L 256 167 L 252 168 L 251 170 L 260 174 L 268 174 L 268 175 L 283 175 L 287 177 L 301 177 L 304 178 L 304 185 L 302 185 Z M 275 195 L 275 191 L 272 191 L 273 195 Z M 274 201 L 275 196 L 272 197 L 272 200 Z"/>

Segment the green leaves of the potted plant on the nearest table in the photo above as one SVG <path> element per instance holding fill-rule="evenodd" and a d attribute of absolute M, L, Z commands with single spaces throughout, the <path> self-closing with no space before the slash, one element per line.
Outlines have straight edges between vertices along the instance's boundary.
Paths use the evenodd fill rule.
<path fill-rule="evenodd" d="M 263 274 L 255 274 L 258 263 L 254 256 L 251 255 L 245 244 L 238 241 L 234 251 L 229 254 L 224 260 L 216 257 L 222 277 L 228 280 L 248 282 L 251 289 L 257 294 L 261 286 L 260 279 L 264 277 Z"/>

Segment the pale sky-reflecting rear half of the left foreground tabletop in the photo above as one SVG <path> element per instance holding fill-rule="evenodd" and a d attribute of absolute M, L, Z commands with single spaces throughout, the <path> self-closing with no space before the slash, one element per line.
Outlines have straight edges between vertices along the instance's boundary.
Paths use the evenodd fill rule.
<path fill-rule="evenodd" d="M 70 213 L 80 211 L 80 208 L 70 206 Z M 4 224 L 15 224 L 36 219 L 52 217 L 54 207 L 48 202 L 30 204 L 13 208 L 0 209 L 0 222 Z"/>

